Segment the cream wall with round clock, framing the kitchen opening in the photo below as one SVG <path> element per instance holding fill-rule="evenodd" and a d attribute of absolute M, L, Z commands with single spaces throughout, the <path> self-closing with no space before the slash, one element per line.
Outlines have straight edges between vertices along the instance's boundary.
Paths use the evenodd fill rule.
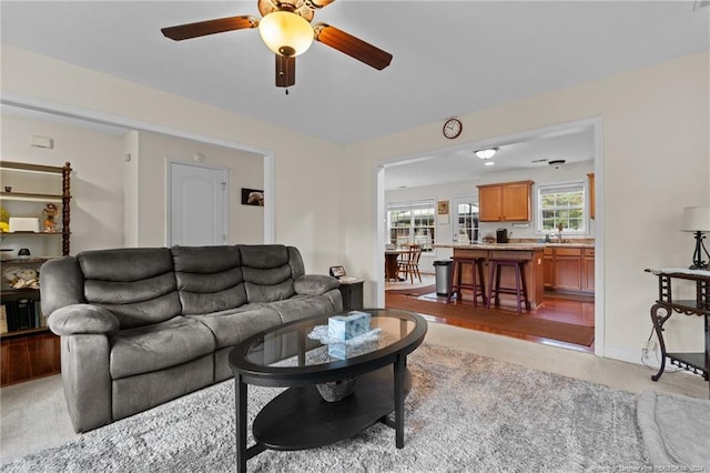
<path fill-rule="evenodd" d="M 597 191 L 597 241 L 604 242 L 604 328 L 607 356 L 638 362 L 649 335 L 656 279 L 645 268 L 690 264 L 692 239 L 680 232 L 686 205 L 708 205 L 710 190 L 709 54 L 690 54 L 579 87 L 459 117 L 462 142 L 486 142 L 544 127 L 600 117 L 604 173 Z M 387 104 L 384 104 L 387 107 Z M 343 213 L 351 272 L 382 278 L 375 262 L 375 169 L 378 163 L 449 145 L 440 123 L 358 143 L 346 150 Z M 604 219 L 604 220 L 601 220 Z M 602 222 L 604 227 L 599 227 Z M 598 253 L 599 254 L 599 253 Z M 374 284 L 367 292 L 371 301 Z M 677 316 L 668 342 L 701 350 L 699 318 Z"/>

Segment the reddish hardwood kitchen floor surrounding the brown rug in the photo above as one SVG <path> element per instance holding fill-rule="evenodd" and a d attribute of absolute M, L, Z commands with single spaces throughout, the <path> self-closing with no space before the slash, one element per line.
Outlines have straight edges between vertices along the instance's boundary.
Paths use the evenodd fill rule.
<path fill-rule="evenodd" d="M 423 281 L 423 284 L 420 284 L 420 286 L 426 286 L 427 282 L 430 284 L 433 282 L 433 279 L 430 279 L 429 281 Z M 575 344 L 555 340 L 554 338 L 541 338 L 528 333 L 506 331 L 505 329 L 500 329 L 499 326 L 496 328 L 487 325 L 485 322 L 481 323 L 479 319 L 476 321 L 471 321 L 469 314 L 474 309 L 474 305 L 470 292 L 468 292 L 468 294 L 465 292 L 464 300 L 460 302 L 447 303 L 446 298 L 437 296 L 435 292 L 414 295 L 417 294 L 417 292 L 424 292 L 425 290 L 422 288 L 419 288 L 418 290 L 413 290 L 413 295 L 406 294 L 406 284 L 390 284 L 387 286 L 387 289 L 388 291 L 385 292 L 385 305 L 387 305 L 387 301 L 393 302 L 395 298 L 407 298 L 408 310 L 415 310 L 417 312 L 426 314 L 426 311 L 428 308 L 430 308 L 432 303 L 440 304 L 437 306 L 437 315 L 427 315 L 427 319 L 433 322 L 594 353 L 594 342 L 590 345 Z M 392 291 L 393 289 L 395 291 Z M 513 305 L 501 305 L 500 308 L 496 309 L 491 308 L 490 312 L 499 314 L 516 314 L 516 308 Z M 594 328 L 594 298 L 546 292 L 544 303 L 529 312 L 525 312 L 524 316 L 531 320 L 546 320 L 560 322 L 564 324 Z"/>

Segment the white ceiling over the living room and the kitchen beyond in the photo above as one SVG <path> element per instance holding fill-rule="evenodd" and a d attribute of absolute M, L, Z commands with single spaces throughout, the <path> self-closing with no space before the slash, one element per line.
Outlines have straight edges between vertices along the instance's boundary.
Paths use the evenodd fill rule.
<path fill-rule="evenodd" d="M 323 140 L 353 143 L 707 50 L 710 8 L 699 4 L 337 0 L 317 11 L 314 22 L 390 52 L 392 64 L 377 71 L 314 42 L 297 58 L 288 95 L 274 87 L 273 53 L 257 31 L 180 42 L 160 32 L 236 14 L 258 18 L 256 0 L 2 0 L 0 33 L 3 43 Z M 556 153 L 568 162 L 590 159 L 590 143 L 587 130 L 510 144 L 501 148 L 494 168 L 547 165 L 530 161 Z M 437 154 L 437 169 L 448 169 L 448 177 L 435 175 L 424 161 L 390 168 L 387 188 L 417 185 L 420 177 L 430 184 L 452 182 L 452 174 L 460 181 L 462 172 L 477 175 L 484 171 L 471 151 Z M 396 182 L 398 172 L 409 179 Z"/>

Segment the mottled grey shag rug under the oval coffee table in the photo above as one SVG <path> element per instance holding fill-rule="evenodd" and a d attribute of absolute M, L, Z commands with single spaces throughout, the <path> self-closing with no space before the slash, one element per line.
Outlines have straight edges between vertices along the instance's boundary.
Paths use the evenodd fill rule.
<path fill-rule="evenodd" d="M 423 345 L 408 358 L 405 446 L 376 424 L 329 446 L 266 451 L 250 472 L 647 471 L 637 395 L 475 354 Z M 250 424 L 277 391 L 250 386 Z M 234 471 L 226 381 L 30 454 L 4 472 Z M 621 470 L 625 469 L 625 470 Z"/>

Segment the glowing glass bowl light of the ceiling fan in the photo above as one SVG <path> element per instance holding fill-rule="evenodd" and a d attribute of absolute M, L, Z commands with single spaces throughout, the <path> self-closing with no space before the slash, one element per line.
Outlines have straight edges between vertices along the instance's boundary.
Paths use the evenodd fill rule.
<path fill-rule="evenodd" d="M 262 18 L 258 33 L 276 54 L 296 57 L 313 43 L 313 28 L 304 18 L 291 11 L 274 11 Z"/>

